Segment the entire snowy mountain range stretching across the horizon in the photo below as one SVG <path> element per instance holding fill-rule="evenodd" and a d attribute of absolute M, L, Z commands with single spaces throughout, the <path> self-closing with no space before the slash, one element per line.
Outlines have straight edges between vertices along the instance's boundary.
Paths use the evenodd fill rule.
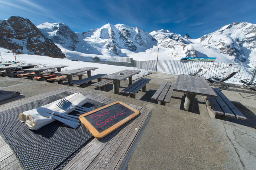
<path fill-rule="evenodd" d="M 0 25 L 0 46 L 27 54 L 65 57 L 65 53 L 69 59 L 82 61 L 114 56 L 152 60 L 159 49 L 159 59 L 164 60 L 217 57 L 216 61 L 256 62 L 256 25 L 246 22 L 234 22 L 199 39 L 163 29 L 147 33 L 123 24 L 106 24 L 82 33 L 64 23 L 35 27 L 22 17 L 10 17 Z"/>

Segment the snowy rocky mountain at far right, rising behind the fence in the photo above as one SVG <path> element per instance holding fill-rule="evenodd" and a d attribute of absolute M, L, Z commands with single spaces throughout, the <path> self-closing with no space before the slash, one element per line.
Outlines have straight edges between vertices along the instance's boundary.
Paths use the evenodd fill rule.
<path fill-rule="evenodd" d="M 231 60 L 256 62 L 256 24 L 233 22 L 199 40 L 201 45 L 215 48 Z"/>

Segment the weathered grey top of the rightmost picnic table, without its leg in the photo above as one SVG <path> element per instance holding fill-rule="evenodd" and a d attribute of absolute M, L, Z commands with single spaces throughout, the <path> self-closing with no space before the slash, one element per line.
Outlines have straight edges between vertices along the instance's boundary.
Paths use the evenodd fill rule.
<path fill-rule="evenodd" d="M 207 81 L 202 77 L 196 76 L 178 75 L 173 90 L 201 96 L 217 97 Z"/>

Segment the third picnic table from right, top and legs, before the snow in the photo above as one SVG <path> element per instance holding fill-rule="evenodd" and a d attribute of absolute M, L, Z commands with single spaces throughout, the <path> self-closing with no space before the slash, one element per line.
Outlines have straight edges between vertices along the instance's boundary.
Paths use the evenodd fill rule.
<path fill-rule="evenodd" d="M 83 68 L 76 68 L 72 70 L 66 70 L 66 71 L 60 71 L 55 73 L 56 75 L 66 75 L 68 79 L 68 85 L 73 86 L 71 82 L 73 82 L 74 75 L 82 73 L 82 72 L 87 72 L 87 77 L 91 77 L 91 70 L 98 69 L 98 67 L 83 67 Z M 82 79 L 82 75 L 78 75 L 79 80 Z"/>

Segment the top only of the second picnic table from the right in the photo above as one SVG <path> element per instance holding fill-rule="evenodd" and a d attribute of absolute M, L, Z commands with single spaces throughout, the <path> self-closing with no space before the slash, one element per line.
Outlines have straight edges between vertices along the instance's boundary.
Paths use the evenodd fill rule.
<path fill-rule="evenodd" d="M 134 74 L 138 74 L 139 72 L 140 72 L 140 70 L 122 70 L 122 71 L 119 71 L 116 73 L 105 75 L 101 78 L 108 79 L 108 80 L 120 80 L 121 81 L 123 79 L 133 76 Z M 120 74 L 120 73 L 122 73 L 122 74 Z"/>

